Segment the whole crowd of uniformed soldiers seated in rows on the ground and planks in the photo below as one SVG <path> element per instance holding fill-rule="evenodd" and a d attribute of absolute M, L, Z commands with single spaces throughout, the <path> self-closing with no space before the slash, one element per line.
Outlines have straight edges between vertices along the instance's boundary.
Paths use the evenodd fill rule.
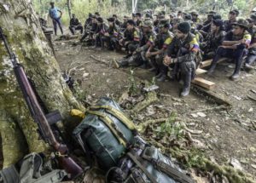
<path fill-rule="evenodd" d="M 93 44 L 98 49 L 125 50 L 126 56 L 115 66 L 140 66 L 155 72 L 159 82 L 182 80 L 181 96 L 189 94 L 191 80 L 202 60 L 212 59 L 208 70 L 212 72 L 222 57 L 234 60 L 236 67 L 230 79 L 239 77 L 241 67 L 253 68 L 256 60 L 256 8 L 247 19 L 237 18 L 237 9 L 229 12 L 229 20 L 222 20 L 215 11 L 207 12 L 201 21 L 196 11 L 166 14 L 124 16 L 116 14 L 107 19 L 96 12 L 89 14 L 84 26 L 73 14 L 70 31 L 81 31 L 80 41 Z M 168 18 L 167 18 L 168 17 Z M 244 60 L 244 62 L 243 62 Z M 244 64 L 242 64 L 244 63 Z M 170 74 L 169 71 L 171 71 Z"/>

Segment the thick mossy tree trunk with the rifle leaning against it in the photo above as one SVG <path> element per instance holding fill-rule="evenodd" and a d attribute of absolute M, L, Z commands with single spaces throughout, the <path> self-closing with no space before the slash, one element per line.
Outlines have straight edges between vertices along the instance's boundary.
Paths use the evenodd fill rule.
<path fill-rule="evenodd" d="M 0 0 L 0 26 L 47 110 L 60 110 L 64 118 L 68 117 L 71 108 L 84 110 L 61 77 L 60 67 L 46 42 L 31 1 Z M 63 124 L 67 128 L 70 126 L 65 121 Z M 0 134 L 3 140 L 3 167 L 15 163 L 27 152 L 48 149 L 43 140 L 38 140 L 37 129 L 18 88 L 9 55 L 0 43 Z"/>

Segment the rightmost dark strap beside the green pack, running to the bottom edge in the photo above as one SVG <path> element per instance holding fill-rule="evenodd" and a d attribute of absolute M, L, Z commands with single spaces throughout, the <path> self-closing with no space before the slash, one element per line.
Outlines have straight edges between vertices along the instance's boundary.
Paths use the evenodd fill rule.
<path fill-rule="evenodd" d="M 172 168 L 170 164 L 167 164 L 161 160 L 155 159 L 154 157 L 148 157 L 147 155 L 145 155 L 145 153 L 143 153 L 142 157 L 143 159 L 152 163 L 156 169 L 159 169 L 161 172 L 172 177 L 173 180 L 176 180 L 180 183 L 195 183 L 195 181 L 192 180 L 186 174 L 183 174 L 177 169 Z"/>

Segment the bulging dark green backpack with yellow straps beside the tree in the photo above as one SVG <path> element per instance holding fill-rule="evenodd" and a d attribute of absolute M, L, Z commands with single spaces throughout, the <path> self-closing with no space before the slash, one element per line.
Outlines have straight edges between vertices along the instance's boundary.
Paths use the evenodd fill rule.
<path fill-rule="evenodd" d="M 102 98 L 96 106 L 90 106 L 84 120 L 73 130 L 87 161 L 94 156 L 105 170 L 117 165 L 126 148 L 133 145 L 135 134 L 134 123 L 109 98 Z"/>

